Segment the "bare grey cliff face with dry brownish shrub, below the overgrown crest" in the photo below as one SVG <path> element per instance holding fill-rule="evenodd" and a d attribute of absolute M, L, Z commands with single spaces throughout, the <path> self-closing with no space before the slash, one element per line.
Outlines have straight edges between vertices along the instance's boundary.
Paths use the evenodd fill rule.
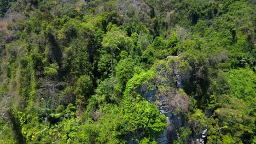
<path fill-rule="evenodd" d="M 160 114 L 164 114 L 167 119 L 168 126 L 164 133 L 159 136 L 158 143 L 173 143 L 178 136 L 179 128 L 184 126 L 184 115 L 182 113 L 174 115 L 174 111 L 177 107 L 181 110 L 188 109 L 188 105 L 187 107 L 179 107 L 181 105 L 186 105 L 183 104 L 183 102 L 188 101 L 189 99 L 180 99 L 180 97 L 186 98 L 187 95 L 181 95 L 181 93 L 177 92 L 177 89 L 174 88 L 166 88 L 164 92 L 153 89 L 152 91 L 149 91 L 143 95 L 146 100 L 149 101 L 149 103 L 158 104 Z"/>

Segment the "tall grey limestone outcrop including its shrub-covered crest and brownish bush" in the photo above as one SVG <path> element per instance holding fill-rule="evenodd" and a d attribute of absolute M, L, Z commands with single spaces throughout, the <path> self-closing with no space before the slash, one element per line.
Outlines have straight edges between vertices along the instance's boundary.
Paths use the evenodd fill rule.
<path fill-rule="evenodd" d="M 168 56 L 166 63 L 160 63 L 155 78 L 149 83 L 143 83 L 139 94 L 149 103 L 158 105 L 160 114 L 164 114 L 168 126 L 159 136 L 159 144 L 173 143 L 179 137 L 179 128 L 184 127 L 184 113 L 189 108 L 189 96 L 183 92 L 183 83 L 190 79 L 190 70 L 181 69 L 183 53 L 178 56 Z M 152 89 L 148 91 L 147 89 Z M 200 139 L 200 137 L 199 137 Z"/>

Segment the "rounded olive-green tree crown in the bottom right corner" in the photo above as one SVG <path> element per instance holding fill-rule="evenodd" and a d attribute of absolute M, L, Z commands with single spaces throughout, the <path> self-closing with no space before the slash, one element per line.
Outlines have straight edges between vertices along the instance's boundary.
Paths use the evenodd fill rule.
<path fill-rule="evenodd" d="M 225 107 L 217 109 L 212 118 L 207 140 L 211 143 L 230 141 L 231 143 L 251 143 L 255 128 L 255 117 L 246 114 L 246 105 L 232 98 Z M 213 119 L 215 117 L 215 119 Z"/>

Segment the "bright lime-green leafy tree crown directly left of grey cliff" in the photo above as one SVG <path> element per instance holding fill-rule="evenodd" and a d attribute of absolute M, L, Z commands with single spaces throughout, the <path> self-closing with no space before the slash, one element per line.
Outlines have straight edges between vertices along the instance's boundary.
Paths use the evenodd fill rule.
<path fill-rule="evenodd" d="M 166 127 L 165 116 L 159 115 L 156 106 L 148 104 L 147 101 L 132 105 L 127 103 L 120 108 L 108 106 L 104 107 L 103 111 L 105 114 L 97 120 L 96 128 L 94 126 L 96 131 L 100 130 L 88 135 L 89 139 L 96 143 L 123 143 L 126 139 L 139 140 L 140 137 L 133 137 L 136 131 L 143 131 L 144 137 L 154 141 Z M 85 127 L 88 126 L 92 127 L 90 124 L 85 125 Z M 92 139 L 93 137 L 95 139 Z"/>

